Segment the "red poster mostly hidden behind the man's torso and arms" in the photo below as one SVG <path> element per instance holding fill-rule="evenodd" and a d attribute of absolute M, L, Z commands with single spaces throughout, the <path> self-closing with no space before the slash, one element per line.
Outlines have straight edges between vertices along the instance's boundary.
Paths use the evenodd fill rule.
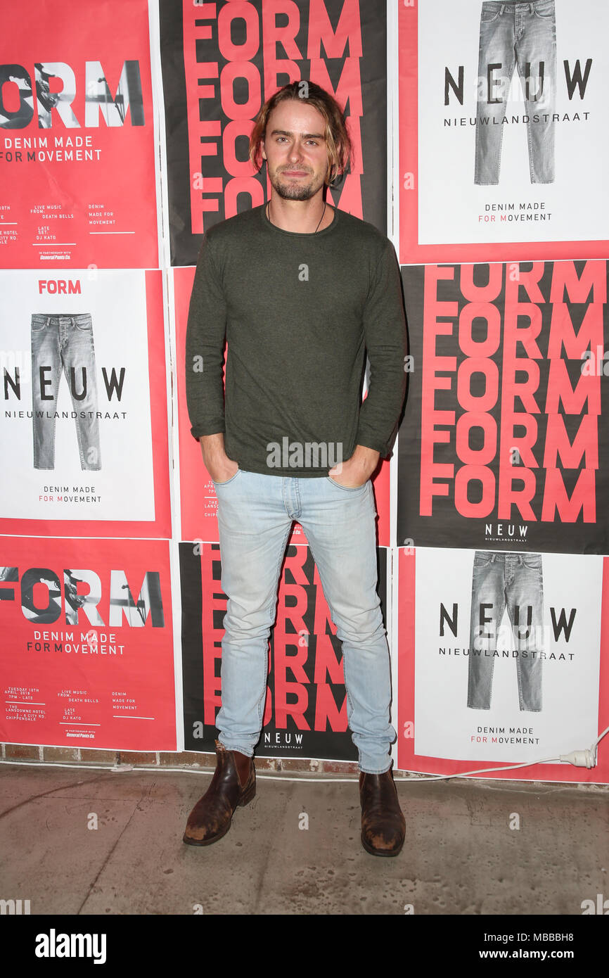
<path fill-rule="evenodd" d="M 186 403 L 184 349 L 189 303 L 195 278 L 194 268 L 173 270 L 173 289 L 176 323 L 176 361 L 178 374 L 178 444 L 180 452 L 180 511 L 181 540 L 218 541 L 216 511 L 218 502 L 213 482 L 201 459 L 198 442 L 191 434 L 191 422 Z M 378 546 L 389 545 L 389 462 L 385 461 L 374 477 L 374 497 L 378 513 Z M 306 537 L 299 523 L 294 523 L 290 543 L 304 544 Z"/>

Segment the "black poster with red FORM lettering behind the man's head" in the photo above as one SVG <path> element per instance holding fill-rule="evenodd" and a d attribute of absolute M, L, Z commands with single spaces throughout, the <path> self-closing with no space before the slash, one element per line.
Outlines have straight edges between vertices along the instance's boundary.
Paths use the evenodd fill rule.
<path fill-rule="evenodd" d="M 268 199 L 248 160 L 263 103 L 301 78 L 346 112 L 354 161 L 327 202 L 386 226 L 386 25 L 359 0 L 161 0 L 171 264 L 195 265 L 207 228 Z"/>

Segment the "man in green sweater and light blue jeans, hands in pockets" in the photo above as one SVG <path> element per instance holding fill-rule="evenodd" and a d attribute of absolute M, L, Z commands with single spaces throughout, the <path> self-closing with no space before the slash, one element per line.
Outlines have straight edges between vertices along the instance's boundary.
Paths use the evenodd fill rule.
<path fill-rule="evenodd" d="M 255 793 L 268 639 L 294 519 L 342 642 L 362 843 L 377 856 L 396 856 L 404 843 L 389 757 L 396 734 L 370 475 L 389 453 L 404 400 L 406 328 L 392 245 L 325 200 L 350 155 L 333 98 L 313 83 L 284 86 L 261 109 L 250 139 L 254 163 L 266 160 L 272 198 L 210 228 L 196 266 L 187 399 L 218 497 L 229 600 L 217 768 L 189 817 L 184 841 L 192 845 L 222 838 Z"/>

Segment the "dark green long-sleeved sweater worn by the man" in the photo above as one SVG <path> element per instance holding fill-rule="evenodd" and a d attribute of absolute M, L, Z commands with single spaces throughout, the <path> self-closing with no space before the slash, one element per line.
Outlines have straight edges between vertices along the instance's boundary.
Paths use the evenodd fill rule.
<path fill-rule="evenodd" d="M 406 352 L 395 251 L 372 225 L 334 210 L 323 231 L 295 234 L 260 206 L 206 233 L 189 310 L 187 402 L 193 435 L 223 431 L 240 468 L 320 476 L 358 444 L 386 456 Z"/>

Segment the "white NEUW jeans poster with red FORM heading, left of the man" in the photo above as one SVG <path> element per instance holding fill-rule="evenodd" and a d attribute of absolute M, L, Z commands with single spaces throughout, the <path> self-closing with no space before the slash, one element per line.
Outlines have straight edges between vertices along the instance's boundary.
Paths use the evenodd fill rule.
<path fill-rule="evenodd" d="M 0 272 L 0 529 L 168 537 L 161 272 L 51 276 Z"/>

